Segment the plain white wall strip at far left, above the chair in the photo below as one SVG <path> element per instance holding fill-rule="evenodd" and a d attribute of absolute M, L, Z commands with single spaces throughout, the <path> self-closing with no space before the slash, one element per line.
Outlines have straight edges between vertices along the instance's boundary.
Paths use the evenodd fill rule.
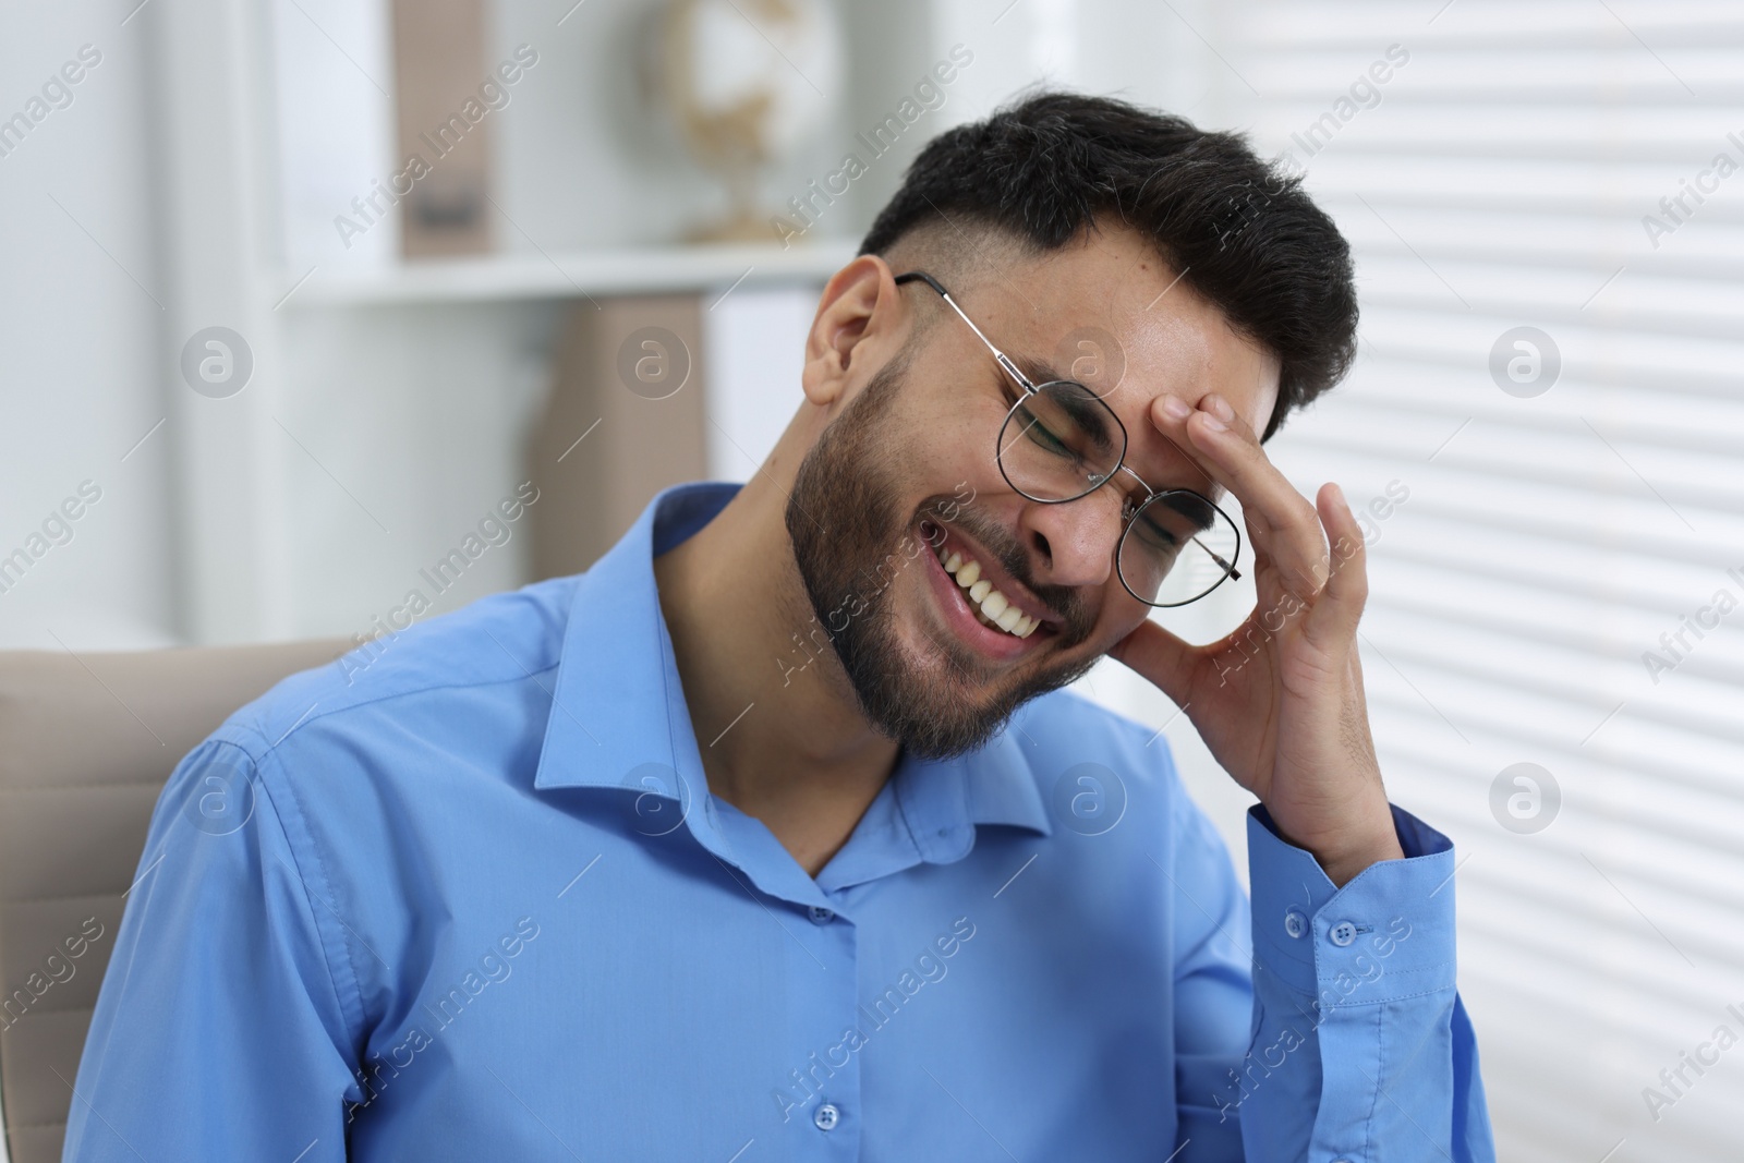
<path fill-rule="evenodd" d="M 0 7 L 0 117 L 92 45 L 101 61 L 0 157 L 0 554 L 85 479 L 101 490 L 0 593 L 0 645 L 153 645 L 174 624 L 174 532 L 159 429 L 162 279 L 138 21 Z M 129 455 L 131 452 L 131 455 Z M 124 460 L 126 457 L 126 460 Z"/>

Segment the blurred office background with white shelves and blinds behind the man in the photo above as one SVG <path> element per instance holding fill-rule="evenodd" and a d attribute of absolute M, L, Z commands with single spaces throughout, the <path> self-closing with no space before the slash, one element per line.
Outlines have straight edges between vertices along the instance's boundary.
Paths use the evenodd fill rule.
<path fill-rule="evenodd" d="M 1735 0 L 5 0 L 0 80 L 0 647 L 73 654 L 363 640 L 745 479 L 907 160 L 1025 85 L 1250 134 L 1357 249 L 1271 455 L 1366 514 L 1500 1158 L 1739 1158 Z M 1186 717 L 1081 685 L 1243 867 Z"/>

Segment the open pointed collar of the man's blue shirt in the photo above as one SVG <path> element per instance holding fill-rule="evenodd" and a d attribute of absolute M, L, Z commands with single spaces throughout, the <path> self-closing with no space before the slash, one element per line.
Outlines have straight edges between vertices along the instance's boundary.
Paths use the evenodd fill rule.
<path fill-rule="evenodd" d="M 720 483 L 664 490 L 577 579 L 534 774 L 539 790 L 637 788 L 677 797 L 698 840 L 724 858 L 731 846 L 708 797 L 654 558 L 712 521 L 738 490 Z M 659 772 L 675 774 L 678 786 L 659 786 Z M 975 825 L 1052 833 L 1034 772 L 1010 729 L 956 760 L 905 757 L 891 785 L 914 846 L 933 863 L 966 856 Z"/>

